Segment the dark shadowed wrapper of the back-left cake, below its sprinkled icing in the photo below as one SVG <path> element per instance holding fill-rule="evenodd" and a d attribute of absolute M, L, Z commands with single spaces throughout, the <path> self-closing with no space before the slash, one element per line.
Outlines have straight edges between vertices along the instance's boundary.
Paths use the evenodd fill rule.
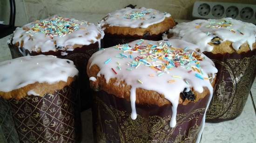
<path fill-rule="evenodd" d="M 9 44 L 9 48 L 12 54 L 13 58 L 17 58 L 22 56 L 20 53 L 20 50 L 23 50 L 22 48 L 15 47 L 12 44 Z M 72 60 L 76 66 L 76 68 L 79 70 L 79 83 L 80 83 L 80 94 L 81 94 L 81 109 L 87 109 L 91 106 L 92 104 L 92 90 L 90 89 L 90 84 L 89 84 L 89 78 L 88 75 L 86 74 L 86 67 L 89 58 L 99 50 L 99 43 L 96 42 L 94 44 L 89 44 L 89 45 L 83 45 L 82 47 L 75 48 L 73 51 L 63 51 L 63 50 L 58 50 L 58 51 L 49 51 L 49 52 L 32 52 L 30 53 L 28 50 L 25 52 L 27 55 L 31 56 L 36 56 L 36 55 L 54 55 L 57 56 L 58 58 L 63 58 L 63 59 L 69 59 Z M 61 56 L 61 52 L 66 52 L 67 56 Z"/>

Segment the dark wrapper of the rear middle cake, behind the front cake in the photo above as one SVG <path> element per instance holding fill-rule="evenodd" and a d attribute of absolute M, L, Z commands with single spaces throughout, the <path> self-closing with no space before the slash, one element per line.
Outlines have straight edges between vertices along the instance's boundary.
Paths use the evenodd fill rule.
<path fill-rule="evenodd" d="M 162 40 L 162 34 L 163 33 L 160 33 L 157 35 L 144 34 L 143 36 L 138 36 L 138 35 L 117 35 L 117 34 L 105 33 L 103 37 L 103 44 L 104 44 L 104 48 L 109 48 L 118 44 L 127 44 L 129 42 L 132 42 L 138 39 L 159 41 L 159 40 Z"/>

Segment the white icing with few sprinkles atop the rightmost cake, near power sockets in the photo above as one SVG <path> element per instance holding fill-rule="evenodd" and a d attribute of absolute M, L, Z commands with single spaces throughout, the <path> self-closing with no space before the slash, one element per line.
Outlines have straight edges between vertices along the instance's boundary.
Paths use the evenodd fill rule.
<path fill-rule="evenodd" d="M 252 50 L 252 44 L 256 41 L 256 25 L 231 18 L 198 19 L 180 23 L 170 29 L 169 32 L 174 34 L 172 38 L 197 44 L 202 52 L 213 50 L 213 46 L 208 43 L 214 37 L 220 37 L 222 41 L 232 42 L 232 47 L 235 50 L 239 50 L 240 46 L 246 42 Z"/>

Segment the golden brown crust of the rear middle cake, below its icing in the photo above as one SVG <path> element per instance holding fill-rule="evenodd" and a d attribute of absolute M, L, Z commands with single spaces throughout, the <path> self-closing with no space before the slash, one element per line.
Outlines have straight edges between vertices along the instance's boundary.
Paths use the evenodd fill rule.
<path fill-rule="evenodd" d="M 148 28 L 131 28 L 109 25 L 103 25 L 102 28 L 106 28 L 104 32 L 108 34 L 143 36 L 146 33 L 149 33 L 150 35 L 158 35 L 160 33 L 168 31 L 168 29 L 172 28 L 175 25 L 176 23 L 174 19 L 168 17 L 160 23 L 148 26 Z"/>

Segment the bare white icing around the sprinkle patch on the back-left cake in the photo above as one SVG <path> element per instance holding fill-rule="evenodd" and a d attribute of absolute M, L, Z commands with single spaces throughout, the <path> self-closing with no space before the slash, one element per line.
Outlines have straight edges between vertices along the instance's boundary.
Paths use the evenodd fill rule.
<path fill-rule="evenodd" d="M 55 18 L 57 16 L 53 16 Z M 49 19 L 52 19 L 49 18 Z M 47 19 L 46 19 L 47 20 Z M 35 21 L 24 25 L 23 27 L 32 28 L 36 23 L 40 21 Z M 79 28 L 65 36 L 51 36 L 46 35 L 41 32 L 27 32 L 23 30 L 22 27 L 17 27 L 13 33 L 12 44 L 17 42 L 21 43 L 23 41 L 23 48 L 25 50 L 31 51 L 57 51 L 57 50 L 74 50 L 74 44 L 89 45 L 92 43 L 99 43 L 101 46 L 101 39 L 104 37 L 104 32 L 100 27 L 94 24 L 88 23 L 87 21 L 74 20 L 74 23 L 79 24 Z M 32 31 L 32 30 L 30 30 Z M 101 34 L 101 38 L 97 39 L 98 35 Z M 56 41 L 56 46 L 54 44 Z M 60 47 L 60 48 L 58 48 Z M 19 46 L 20 48 L 20 46 Z M 26 56 L 25 52 L 21 52 L 23 56 Z"/>

